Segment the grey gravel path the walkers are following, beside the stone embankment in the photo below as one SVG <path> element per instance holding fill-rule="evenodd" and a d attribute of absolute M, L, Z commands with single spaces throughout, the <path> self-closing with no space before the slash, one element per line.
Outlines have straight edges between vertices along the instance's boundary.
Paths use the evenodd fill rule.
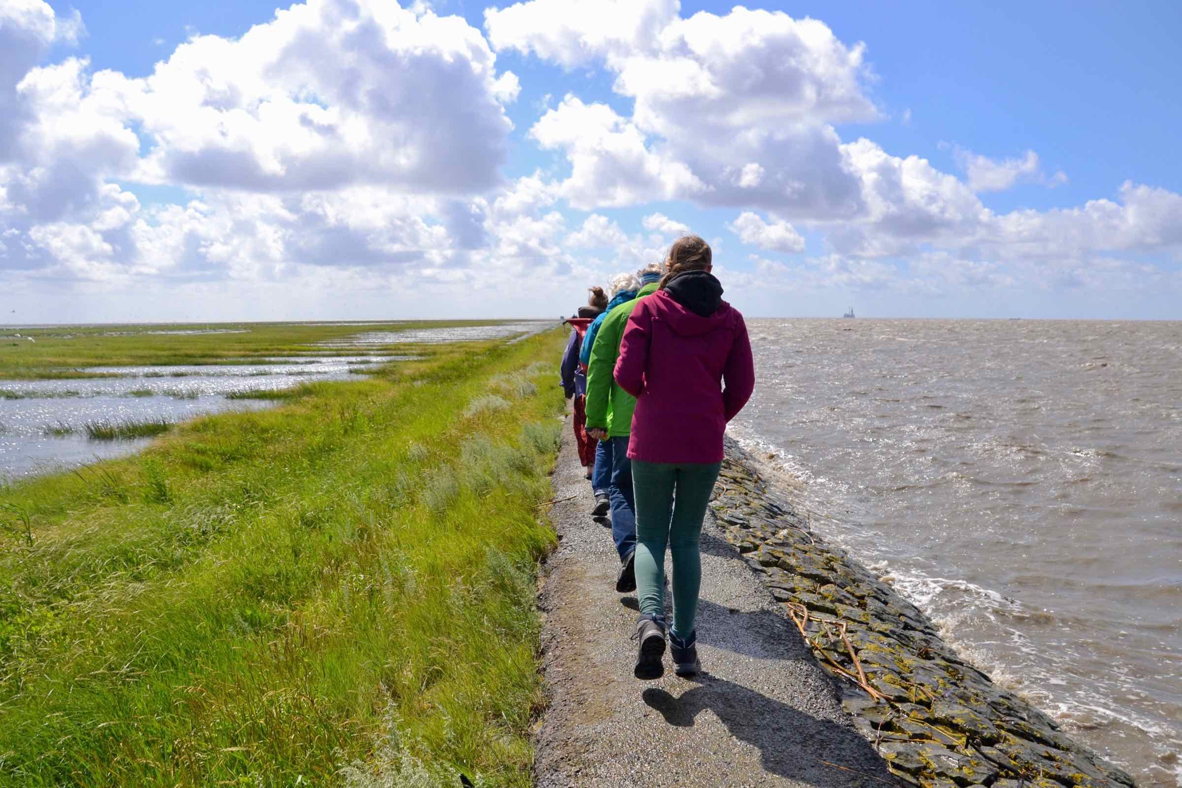
<path fill-rule="evenodd" d="M 550 706 L 535 735 L 539 788 L 896 786 L 768 592 L 717 538 L 702 535 L 697 619 L 703 673 L 632 677 L 635 592 L 615 591 L 609 528 L 590 516 L 570 418 L 550 515 L 559 548 L 540 594 Z"/>

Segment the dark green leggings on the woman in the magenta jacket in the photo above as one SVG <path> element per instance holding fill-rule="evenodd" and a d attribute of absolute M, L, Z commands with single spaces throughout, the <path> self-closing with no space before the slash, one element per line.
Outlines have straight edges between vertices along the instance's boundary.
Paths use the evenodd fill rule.
<path fill-rule="evenodd" d="M 697 592 L 702 587 L 702 534 L 706 504 L 722 463 L 632 461 L 636 496 L 636 593 L 641 612 L 664 616 L 664 552 L 673 554 L 673 632 L 694 633 Z"/>

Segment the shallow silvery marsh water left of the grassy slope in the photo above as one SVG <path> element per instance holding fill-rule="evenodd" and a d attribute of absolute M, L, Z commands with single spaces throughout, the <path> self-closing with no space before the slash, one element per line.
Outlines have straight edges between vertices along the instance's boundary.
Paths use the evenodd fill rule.
<path fill-rule="evenodd" d="M 97 441 L 87 423 L 163 421 L 232 410 L 260 410 L 266 399 L 243 392 L 340 380 L 414 356 L 284 357 L 265 364 L 102 366 L 104 378 L 0 382 L 0 477 L 17 478 L 131 454 L 151 438 Z"/>

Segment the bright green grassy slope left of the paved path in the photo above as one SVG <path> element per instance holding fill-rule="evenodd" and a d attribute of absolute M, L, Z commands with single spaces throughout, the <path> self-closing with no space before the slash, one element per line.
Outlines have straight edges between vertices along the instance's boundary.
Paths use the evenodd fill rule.
<path fill-rule="evenodd" d="M 0 488 L 0 784 L 528 784 L 564 338 Z"/>

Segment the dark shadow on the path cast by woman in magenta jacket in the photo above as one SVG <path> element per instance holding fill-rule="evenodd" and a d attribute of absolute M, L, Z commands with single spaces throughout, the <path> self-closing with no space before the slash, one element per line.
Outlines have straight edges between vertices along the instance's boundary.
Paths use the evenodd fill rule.
<path fill-rule="evenodd" d="M 818 719 L 725 678 L 702 673 L 697 679 L 699 685 L 680 697 L 660 688 L 644 690 L 642 697 L 678 728 L 691 728 L 699 712 L 709 709 L 732 736 L 759 748 L 764 769 L 781 777 L 818 788 L 902 784 L 856 730 Z"/>

